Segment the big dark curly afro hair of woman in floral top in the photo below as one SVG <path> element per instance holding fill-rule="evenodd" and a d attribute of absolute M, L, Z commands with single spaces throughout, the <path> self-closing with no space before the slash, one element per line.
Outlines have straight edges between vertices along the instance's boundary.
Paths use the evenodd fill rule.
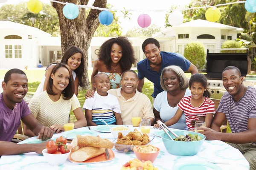
<path fill-rule="evenodd" d="M 131 65 L 135 63 L 136 59 L 131 42 L 126 37 L 116 37 L 105 41 L 99 48 L 99 60 L 103 61 L 108 70 L 111 70 L 111 48 L 114 43 L 122 48 L 122 58 L 119 61 L 122 72 L 131 69 Z"/>

